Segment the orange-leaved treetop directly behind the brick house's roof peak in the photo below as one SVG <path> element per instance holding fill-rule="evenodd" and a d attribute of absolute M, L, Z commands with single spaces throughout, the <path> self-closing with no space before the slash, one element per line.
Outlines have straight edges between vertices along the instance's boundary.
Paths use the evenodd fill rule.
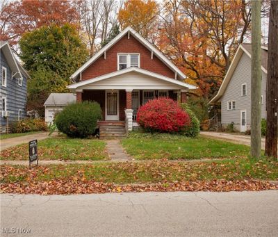
<path fill-rule="evenodd" d="M 158 3 L 154 0 L 128 0 L 119 11 L 118 19 L 122 29 L 134 28 L 144 38 L 152 40 L 158 28 Z"/>

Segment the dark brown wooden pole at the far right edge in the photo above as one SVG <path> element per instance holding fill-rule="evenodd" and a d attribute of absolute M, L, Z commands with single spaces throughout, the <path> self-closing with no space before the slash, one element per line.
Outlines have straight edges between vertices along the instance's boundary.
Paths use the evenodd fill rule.
<path fill-rule="evenodd" d="M 268 34 L 268 82 L 266 97 L 265 155 L 277 159 L 278 112 L 278 1 L 270 2 Z"/>

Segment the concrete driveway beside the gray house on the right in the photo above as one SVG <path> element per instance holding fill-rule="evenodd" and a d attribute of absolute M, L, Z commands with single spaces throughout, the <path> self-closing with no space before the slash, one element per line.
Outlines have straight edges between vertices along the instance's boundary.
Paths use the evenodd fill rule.
<path fill-rule="evenodd" d="M 236 144 L 251 145 L 251 136 L 239 135 L 235 133 L 218 133 L 215 131 L 201 131 L 202 136 L 215 138 L 219 140 L 227 140 Z M 265 138 L 261 138 L 261 149 L 265 149 Z"/>

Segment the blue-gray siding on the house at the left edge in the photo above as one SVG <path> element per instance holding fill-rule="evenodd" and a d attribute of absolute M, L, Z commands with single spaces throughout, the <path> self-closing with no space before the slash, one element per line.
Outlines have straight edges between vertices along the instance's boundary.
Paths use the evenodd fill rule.
<path fill-rule="evenodd" d="M 9 111 L 10 113 L 9 121 L 13 122 L 18 120 L 19 109 L 22 110 L 22 117 L 26 117 L 27 79 L 22 75 L 22 85 L 19 85 L 18 79 L 12 79 L 12 72 L 5 56 L 2 54 L 1 51 L 0 79 L 2 79 L 2 66 L 6 67 L 7 69 L 7 87 L 3 87 L 2 83 L 0 83 L 0 97 L 6 97 L 6 111 Z M 0 101 L 0 104 L 0 125 L 6 126 L 6 117 L 2 117 L 2 99 Z"/>

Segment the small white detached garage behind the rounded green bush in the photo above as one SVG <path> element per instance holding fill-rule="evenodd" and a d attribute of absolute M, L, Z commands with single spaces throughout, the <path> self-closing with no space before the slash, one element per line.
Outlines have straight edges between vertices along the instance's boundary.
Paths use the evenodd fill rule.
<path fill-rule="evenodd" d="M 73 103 L 76 103 L 76 95 L 73 93 L 51 93 L 44 102 L 45 122 L 53 122 L 56 113 L 63 111 L 67 104 Z"/>

